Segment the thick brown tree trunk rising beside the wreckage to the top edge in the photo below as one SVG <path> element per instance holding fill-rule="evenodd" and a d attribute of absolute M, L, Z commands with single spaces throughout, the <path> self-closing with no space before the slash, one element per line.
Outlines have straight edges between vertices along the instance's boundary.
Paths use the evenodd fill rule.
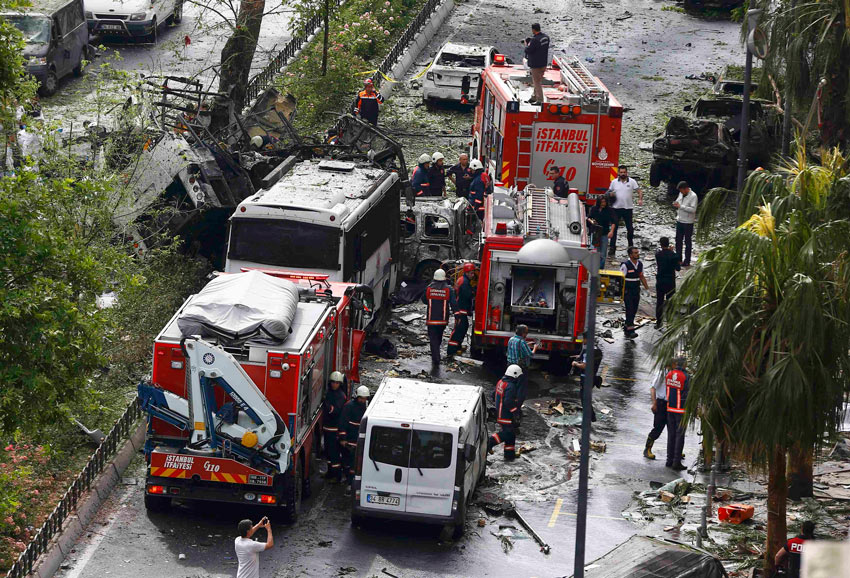
<path fill-rule="evenodd" d="M 235 29 L 221 50 L 218 90 L 230 94 L 230 103 L 213 103 L 213 131 L 227 126 L 230 122 L 228 104 L 232 104 L 237 112 L 241 112 L 245 107 L 251 63 L 257 51 L 257 39 L 260 36 L 265 9 L 266 0 L 242 0 L 239 5 Z"/>

